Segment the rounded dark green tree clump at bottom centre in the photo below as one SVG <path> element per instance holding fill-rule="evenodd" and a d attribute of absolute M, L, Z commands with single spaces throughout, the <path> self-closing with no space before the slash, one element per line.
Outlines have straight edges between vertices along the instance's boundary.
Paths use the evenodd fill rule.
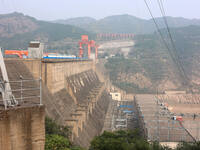
<path fill-rule="evenodd" d="M 91 142 L 90 150 L 150 150 L 138 131 L 104 132 Z"/>

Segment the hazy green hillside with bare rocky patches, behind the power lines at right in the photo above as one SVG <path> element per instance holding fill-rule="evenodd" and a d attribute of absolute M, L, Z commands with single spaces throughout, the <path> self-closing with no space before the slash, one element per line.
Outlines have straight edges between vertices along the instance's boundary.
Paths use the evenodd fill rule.
<path fill-rule="evenodd" d="M 176 50 L 172 49 L 165 29 L 162 33 L 170 50 L 176 53 L 174 57 L 183 66 L 189 82 L 200 87 L 200 27 L 171 29 Z M 115 85 L 135 93 L 157 93 L 185 88 L 182 85 L 184 79 L 157 33 L 138 35 L 135 42 L 128 59 L 108 59 L 106 67 L 110 70 L 111 80 Z"/>

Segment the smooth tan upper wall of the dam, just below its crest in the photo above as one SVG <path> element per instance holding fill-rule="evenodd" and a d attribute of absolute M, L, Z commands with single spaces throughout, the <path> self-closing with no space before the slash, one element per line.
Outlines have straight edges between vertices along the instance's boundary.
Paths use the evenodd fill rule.
<path fill-rule="evenodd" d="M 35 78 L 40 77 L 42 70 L 43 83 L 51 93 L 56 93 L 65 87 L 65 78 L 81 72 L 94 69 L 92 61 L 63 61 L 23 59 L 24 64 Z"/>

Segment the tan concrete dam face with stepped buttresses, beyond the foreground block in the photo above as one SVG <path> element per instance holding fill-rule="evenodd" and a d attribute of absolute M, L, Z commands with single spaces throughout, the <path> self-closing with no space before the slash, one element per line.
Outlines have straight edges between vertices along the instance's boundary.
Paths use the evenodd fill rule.
<path fill-rule="evenodd" d="M 88 148 L 101 133 L 109 94 L 93 61 L 23 60 L 35 78 L 42 70 L 46 115 L 71 128 L 73 143 Z M 40 69 L 37 69 L 40 68 Z"/>

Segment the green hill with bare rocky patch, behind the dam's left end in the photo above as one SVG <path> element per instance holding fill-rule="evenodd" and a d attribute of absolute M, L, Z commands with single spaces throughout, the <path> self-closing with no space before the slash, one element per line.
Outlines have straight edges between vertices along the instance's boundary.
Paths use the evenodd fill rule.
<path fill-rule="evenodd" d="M 0 46 L 5 49 L 25 49 L 32 40 L 65 48 L 65 41 L 78 40 L 82 34 L 92 35 L 79 27 L 39 21 L 21 13 L 0 15 Z"/>

